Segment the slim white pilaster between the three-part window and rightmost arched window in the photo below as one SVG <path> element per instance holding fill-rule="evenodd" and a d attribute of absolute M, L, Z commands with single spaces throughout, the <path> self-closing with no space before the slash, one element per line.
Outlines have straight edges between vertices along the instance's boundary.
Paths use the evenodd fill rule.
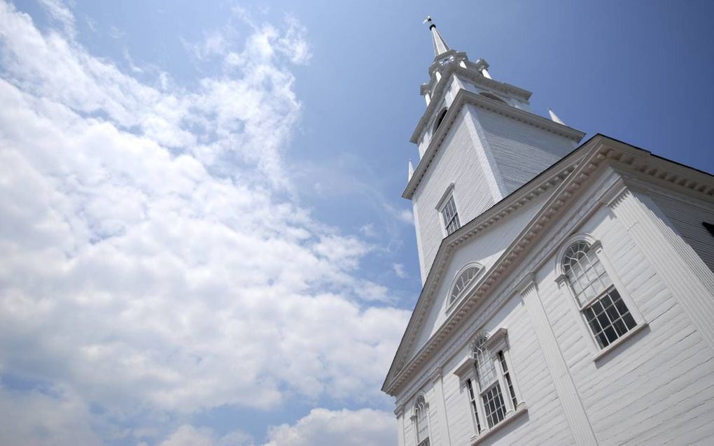
<path fill-rule="evenodd" d="M 576 445 L 597 445 L 598 440 L 595 437 L 593 426 L 590 425 L 583 402 L 578 395 L 578 389 L 575 387 L 573 377 L 570 375 L 568 365 L 565 363 L 563 353 L 560 351 L 558 340 L 555 338 L 553 328 L 550 326 L 548 314 L 545 313 L 543 302 L 538 295 L 538 285 L 535 284 L 535 277 L 531 275 L 523 281 L 523 291 L 521 291 L 523 302 L 526 303 L 528 315 L 531 316 L 531 322 L 535 329 L 535 337 L 538 338 L 540 350 L 543 351 L 545 363 L 548 364 L 548 370 L 553 377 L 555 392 L 558 394 L 560 405 L 563 406 L 565 418 L 570 425 L 570 431 L 573 433 Z"/>

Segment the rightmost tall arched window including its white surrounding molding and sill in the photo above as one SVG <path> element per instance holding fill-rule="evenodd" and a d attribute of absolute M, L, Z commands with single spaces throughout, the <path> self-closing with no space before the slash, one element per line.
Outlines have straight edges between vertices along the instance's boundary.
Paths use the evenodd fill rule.
<path fill-rule="evenodd" d="M 558 287 L 565 288 L 592 341 L 595 360 L 647 325 L 600 240 L 581 233 L 565 240 L 555 258 Z"/>

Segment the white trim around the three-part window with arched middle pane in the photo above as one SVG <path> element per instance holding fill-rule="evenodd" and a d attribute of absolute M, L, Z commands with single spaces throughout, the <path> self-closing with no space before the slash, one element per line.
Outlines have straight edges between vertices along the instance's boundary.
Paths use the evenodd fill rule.
<path fill-rule="evenodd" d="M 481 335 L 486 335 L 486 333 L 479 332 L 473 339 L 476 340 Z M 475 432 L 473 437 L 471 437 L 471 444 L 475 445 L 481 442 L 496 432 L 501 430 L 501 428 L 516 417 L 519 417 L 522 413 L 527 412 L 528 408 L 523 402 L 521 397 L 521 392 L 518 388 L 518 382 L 516 380 L 516 374 L 513 370 L 513 362 L 511 362 L 511 355 L 508 348 L 508 330 L 506 328 L 499 328 L 493 335 L 486 335 L 486 348 L 490 359 L 493 361 L 493 365 L 496 368 L 498 385 L 501 386 L 501 397 L 503 397 L 503 403 L 506 405 L 506 414 L 503 416 L 503 420 L 493 425 L 493 427 L 488 427 L 488 420 L 486 420 L 486 408 L 483 406 L 483 393 L 488 389 L 481 389 L 476 380 L 476 367 L 475 358 L 468 353 L 468 357 L 461 362 L 460 365 L 454 370 L 454 375 L 459 377 L 460 389 L 463 392 L 466 391 L 466 399 L 468 400 L 469 412 L 471 413 L 471 427 L 472 432 Z M 473 343 L 473 341 L 472 341 Z M 469 343 L 469 350 L 471 350 L 472 343 Z M 506 384 L 506 378 L 503 376 L 503 368 L 501 368 L 501 361 L 498 359 L 498 352 L 503 352 L 503 357 L 506 360 L 506 365 L 508 365 L 509 374 L 511 375 L 511 384 L 513 385 L 513 392 L 516 394 L 516 401 L 518 404 L 513 407 L 513 401 L 511 400 L 511 393 L 508 390 L 508 384 Z M 471 387 L 476 398 L 476 404 L 478 405 L 478 420 L 481 424 L 481 432 L 478 432 L 478 427 L 476 427 L 476 416 L 473 414 L 473 407 L 471 405 L 471 395 L 468 393 L 467 382 L 471 382 Z M 489 387 L 490 388 L 490 387 Z"/>

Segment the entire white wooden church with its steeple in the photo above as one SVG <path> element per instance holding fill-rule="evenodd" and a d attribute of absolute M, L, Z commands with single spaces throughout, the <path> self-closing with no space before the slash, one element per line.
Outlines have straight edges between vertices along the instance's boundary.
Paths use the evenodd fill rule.
<path fill-rule="evenodd" d="M 429 25 L 399 445 L 713 445 L 714 177 L 581 143 Z"/>

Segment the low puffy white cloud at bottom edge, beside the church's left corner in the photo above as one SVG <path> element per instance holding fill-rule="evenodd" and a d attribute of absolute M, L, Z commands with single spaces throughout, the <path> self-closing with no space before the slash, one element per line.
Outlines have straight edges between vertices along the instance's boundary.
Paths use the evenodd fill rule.
<path fill-rule="evenodd" d="M 394 415 L 381 410 L 314 409 L 295 425 L 273 427 L 265 446 L 381 446 L 397 442 Z"/>

